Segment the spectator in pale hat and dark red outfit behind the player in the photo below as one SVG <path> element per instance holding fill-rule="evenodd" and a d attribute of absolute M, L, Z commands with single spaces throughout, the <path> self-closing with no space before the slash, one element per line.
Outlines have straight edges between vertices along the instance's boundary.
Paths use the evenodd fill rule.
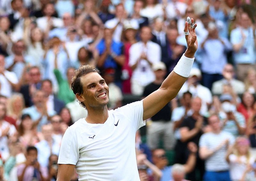
<path fill-rule="evenodd" d="M 136 2 L 135 2 L 136 4 Z M 136 40 L 136 29 L 132 26 L 125 26 L 123 32 L 123 39 L 124 39 L 124 56 L 125 62 L 123 65 L 122 70 L 122 79 L 123 79 L 123 93 L 131 94 L 131 77 L 132 77 L 132 69 L 129 66 L 129 51 L 131 46 L 134 43 L 137 43 Z"/>

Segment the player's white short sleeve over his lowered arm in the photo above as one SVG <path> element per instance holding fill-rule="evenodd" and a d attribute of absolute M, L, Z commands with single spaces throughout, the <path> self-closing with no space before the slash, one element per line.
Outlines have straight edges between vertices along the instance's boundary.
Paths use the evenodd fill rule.
<path fill-rule="evenodd" d="M 58 164 L 72 164 L 76 165 L 79 159 L 79 148 L 76 132 L 70 127 L 66 130 L 61 146 Z"/>

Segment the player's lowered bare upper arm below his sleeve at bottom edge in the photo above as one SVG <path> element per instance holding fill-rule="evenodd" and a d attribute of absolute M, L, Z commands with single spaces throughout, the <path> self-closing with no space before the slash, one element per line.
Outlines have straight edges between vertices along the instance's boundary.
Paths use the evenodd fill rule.
<path fill-rule="evenodd" d="M 57 181 L 70 181 L 76 165 L 59 164 Z"/>

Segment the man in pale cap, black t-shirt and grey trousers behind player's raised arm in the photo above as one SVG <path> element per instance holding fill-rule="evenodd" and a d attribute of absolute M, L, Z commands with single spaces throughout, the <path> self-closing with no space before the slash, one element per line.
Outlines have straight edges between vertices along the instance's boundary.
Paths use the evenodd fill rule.
<path fill-rule="evenodd" d="M 143 97 L 156 91 L 163 83 L 166 75 L 166 67 L 163 62 L 158 62 L 152 65 L 156 79 L 148 84 L 143 92 Z M 152 123 L 147 129 L 147 144 L 151 150 L 159 147 L 160 140 L 163 140 L 164 148 L 172 150 L 175 146 L 173 136 L 173 123 L 171 120 L 171 106 L 167 104 L 156 115 L 151 117 Z"/>

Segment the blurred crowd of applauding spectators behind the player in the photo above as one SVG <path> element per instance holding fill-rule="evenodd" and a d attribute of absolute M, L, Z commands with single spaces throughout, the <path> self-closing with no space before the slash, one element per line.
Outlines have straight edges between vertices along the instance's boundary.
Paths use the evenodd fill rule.
<path fill-rule="evenodd" d="M 194 66 L 136 134 L 140 180 L 256 180 L 255 10 L 253 0 L 2 0 L 0 181 L 55 181 L 62 136 L 87 115 L 71 90 L 76 68 L 100 70 L 108 109 L 142 99 L 185 52 L 188 16 Z"/>

